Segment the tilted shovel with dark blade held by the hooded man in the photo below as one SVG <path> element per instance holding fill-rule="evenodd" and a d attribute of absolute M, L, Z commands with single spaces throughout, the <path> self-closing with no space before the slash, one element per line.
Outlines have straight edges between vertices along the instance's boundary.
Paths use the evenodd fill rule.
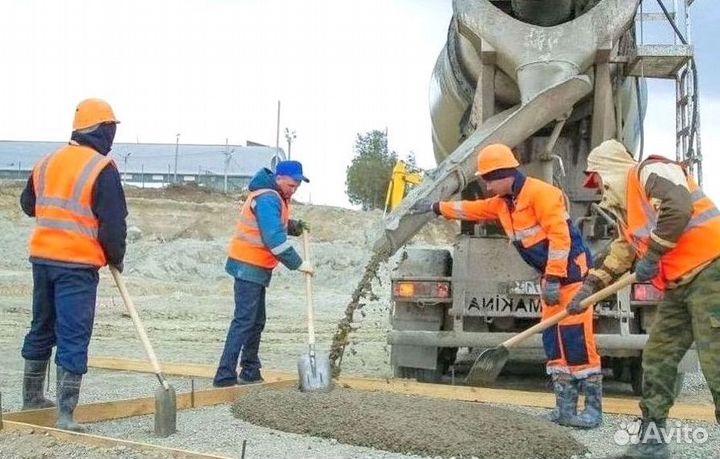
<path fill-rule="evenodd" d="M 590 295 L 589 297 L 581 301 L 580 305 L 583 308 L 592 306 L 598 301 L 604 300 L 608 296 L 617 293 L 618 290 L 627 287 L 633 282 L 635 282 L 635 274 L 626 274 L 614 284 L 605 287 L 604 289 Z M 480 353 L 478 358 L 475 360 L 472 368 L 470 368 L 470 371 L 465 378 L 465 383 L 470 385 L 479 385 L 482 383 L 490 383 L 495 381 L 495 378 L 498 377 L 503 367 L 505 366 L 508 357 L 510 356 L 511 347 L 516 346 L 522 341 L 525 341 L 535 333 L 539 333 L 552 327 L 553 325 L 556 325 L 558 322 L 560 322 L 569 315 L 570 314 L 567 312 L 567 310 L 563 310 L 562 312 L 533 325 L 527 330 L 518 333 L 507 341 L 500 343 L 500 345 L 498 345 L 497 347 L 492 349 L 486 349 L 485 351 Z"/>

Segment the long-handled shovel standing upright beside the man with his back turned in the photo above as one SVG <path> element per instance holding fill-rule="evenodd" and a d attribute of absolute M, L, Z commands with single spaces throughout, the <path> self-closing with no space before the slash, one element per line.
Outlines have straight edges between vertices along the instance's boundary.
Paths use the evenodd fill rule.
<path fill-rule="evenodd" d="M 175 389 L 168 384 L 167 379 L 165 379 L 165 375 L 162 374 L 155 351 L 150 344 L 147 333 L 145 333 L 145 327 L 143 327 L 143 324 L 140 321 L 140 316 L 138 315 L 137 310 L 135 309 L 135 304 L 133 304 L 132 298 L 130 298 L 130 294 L 125 287 L 125 281 L 120 275 L 120 271 L 115 269 L 113 266 L 110 266 L 110 272 L 115 279 L 118 290 L 120 290 L 120 295 L 123 297 L 128 313 L 130 314 L 130 317 L 132 317 L 133 324 L 135 324 L 135 330 L 137 331 L 138 336 L 140 336 L 140 341 L 142 341 L 143 347 L 145 348 L 145 354 L 147 354 L 148 359 L 150 359 L 150 364 L 153 367 L 153 371 L 155 371 L 155 376 L 157 376 L 158 381 L 160 381 L 160 387 L 158 387 L 155 391 L 155 435 L 158 437 L 170 436 L 177 430 Z"/>

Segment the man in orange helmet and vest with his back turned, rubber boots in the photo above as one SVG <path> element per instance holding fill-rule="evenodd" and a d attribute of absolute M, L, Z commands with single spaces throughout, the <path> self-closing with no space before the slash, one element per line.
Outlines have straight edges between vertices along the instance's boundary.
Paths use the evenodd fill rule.
<path fill-rule="evenodd" d="M 30 238 L 33 317 L 22 356 L 23 409 L 48 408 L 43 386 L 53 346 L 57 427 L 82 432 L 73 420 L 95 319 L 98 270 L 122 271 L 127 206 L 115 163 L 107 157 L 119 123 L 104 100 L 75 109 L 70 142 L 33 168 L 20 197 L 35 217 Z"/>

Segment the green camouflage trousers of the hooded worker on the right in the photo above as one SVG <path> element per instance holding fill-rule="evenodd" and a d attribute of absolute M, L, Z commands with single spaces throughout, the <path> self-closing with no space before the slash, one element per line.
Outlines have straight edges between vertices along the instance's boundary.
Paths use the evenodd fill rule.
<path fill-rule="evenodd" d="M 675 399 L 678 364 L 693 341 L 720 423 L 720 260 L 689 284 L 667 290 L 643 351 L 644 417 L 665 420 Z"/>

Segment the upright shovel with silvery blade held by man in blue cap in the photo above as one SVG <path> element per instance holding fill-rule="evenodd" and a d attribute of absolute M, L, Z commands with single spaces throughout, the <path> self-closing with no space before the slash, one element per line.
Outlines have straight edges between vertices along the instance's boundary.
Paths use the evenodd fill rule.
<path fill-rule="evenodd" d="M 303 254 L 310 262 L 308 231 L 303 231 Z M 308 307 L 308 353 L 298 359 L 298 379 L 302 392 L 329 392 L 331 387 L 330 358 L 315 353 L 315 311 L 312 301 L 312 276 L 305 273 L 305 299 Z"/>

